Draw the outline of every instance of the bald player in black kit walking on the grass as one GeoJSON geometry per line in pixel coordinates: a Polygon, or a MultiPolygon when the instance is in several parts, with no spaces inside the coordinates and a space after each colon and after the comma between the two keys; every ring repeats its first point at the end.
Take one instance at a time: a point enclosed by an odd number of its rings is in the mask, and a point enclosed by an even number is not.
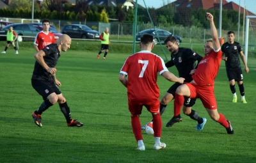
{"type": "Polygon", "coordinates": [[[60,105],[60,110],[67,120],[68,127],[83,126],[83,123],[72,120],[67,101],[58,88],[61,83],[56,79],[57,70],[55,66],[61,56],[61,52],[67,51],[70,48],[70,44],[71,38],[64,34],[60,36],[56,43],[47,45],[44,49],[36,52],[34,56],[36,62],[31,84],[44,99],[40,107],[32,113],[32,117],[38,127],[42,127],[41,114],[56,102],[60,105]]]}

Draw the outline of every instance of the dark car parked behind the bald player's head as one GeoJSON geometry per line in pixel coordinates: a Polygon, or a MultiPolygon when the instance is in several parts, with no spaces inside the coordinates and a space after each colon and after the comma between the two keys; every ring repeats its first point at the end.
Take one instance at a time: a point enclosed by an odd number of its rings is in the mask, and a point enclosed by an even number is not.
{"type": "Polygon", "coordinates": [[[61,29],[61,33],[67,34],[70,38],[93,39],[100,37],[100,33],[98,31],[94,31],[90,27],[81,24],[65,25],[61,29]]]}

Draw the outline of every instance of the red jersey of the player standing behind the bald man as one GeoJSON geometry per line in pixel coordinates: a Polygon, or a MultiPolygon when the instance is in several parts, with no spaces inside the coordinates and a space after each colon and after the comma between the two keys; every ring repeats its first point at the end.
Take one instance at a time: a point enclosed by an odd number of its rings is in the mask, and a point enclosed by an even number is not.
{"type": "Polygon", "coordinates": [[[46,47],[47,45],[50,45],[51,43],[55,43],[54,34],[51,32],[47,34],[47,33],[44,33],[44,31],[40,31],[40,33],[36,35],[35,42],[34,42],[34,44],[38,46],[39,50],[44,49],[44,47],[46,47]]]}

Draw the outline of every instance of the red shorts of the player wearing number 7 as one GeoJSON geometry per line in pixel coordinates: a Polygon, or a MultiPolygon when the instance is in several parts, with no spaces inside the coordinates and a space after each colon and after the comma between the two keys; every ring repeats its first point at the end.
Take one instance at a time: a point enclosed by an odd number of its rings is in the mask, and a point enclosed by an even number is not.
{"type": "Polygon", "coordinates": [[[141,114],[143,105],[147,108],[147,110],[150,113],[157,113],[159,111],[160,102],[159,102],[159,100],[157,100],[156,102],[154,102],[150,105],[138,104],[138,103],[134,104],[132,102],[128,102],[129,111],[130,111],[131,114],[134,114],[134,115],[140,115],[141,114]]]}

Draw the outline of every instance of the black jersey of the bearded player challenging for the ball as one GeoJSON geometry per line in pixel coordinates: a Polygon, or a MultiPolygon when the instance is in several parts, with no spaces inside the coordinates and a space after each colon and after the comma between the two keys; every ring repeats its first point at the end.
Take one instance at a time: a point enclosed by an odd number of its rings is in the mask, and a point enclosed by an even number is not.
{"type": "Polygon", "coordinates": [[[202,56],[193,50],[179,47],[179,52],[177,54],[172,53],[171,60],[165,63],[165,66],[168,68],[175,65],[179,72],[179,77],[184,77],[184,82],[191,82],[192,76],[189,73],[196,68],[195,61],[199,63],[201,59],[202,56]]]}

